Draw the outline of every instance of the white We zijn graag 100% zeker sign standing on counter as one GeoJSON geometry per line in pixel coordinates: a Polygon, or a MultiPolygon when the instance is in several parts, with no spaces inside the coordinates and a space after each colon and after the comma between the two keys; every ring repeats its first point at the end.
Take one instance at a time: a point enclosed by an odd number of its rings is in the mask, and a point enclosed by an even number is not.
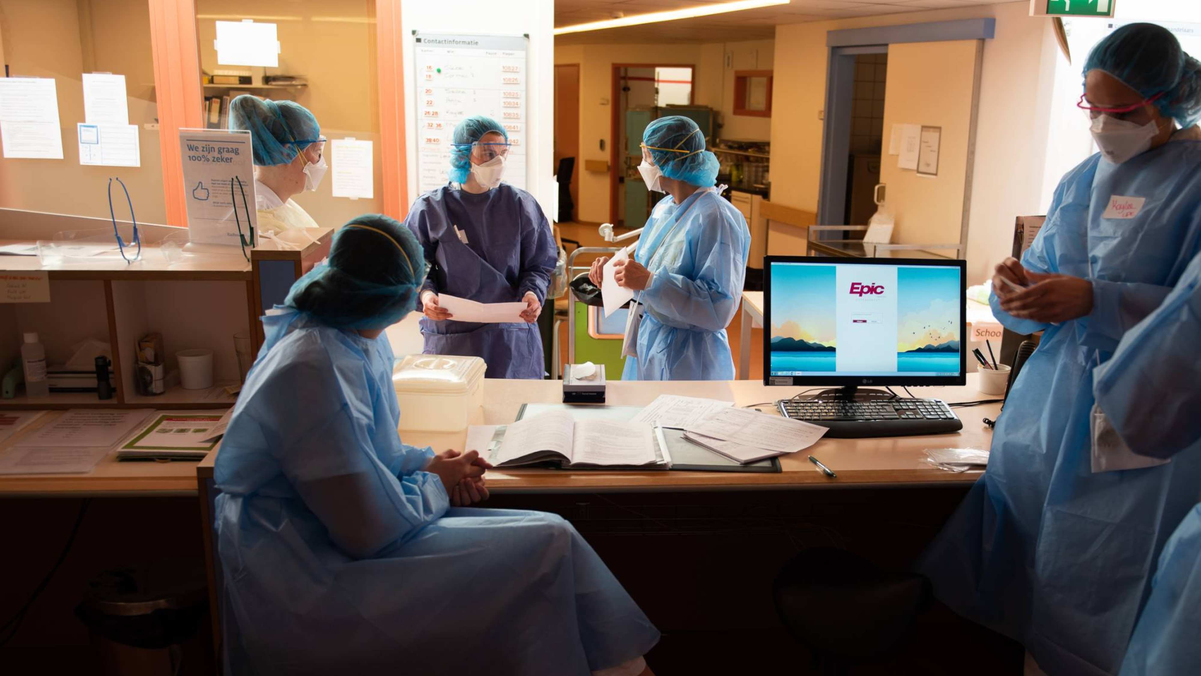
{"type": "Polygon", "coordinates": [[[181,128],[179,152],[192,244],[257,246],[250,132],[181,128]]]}

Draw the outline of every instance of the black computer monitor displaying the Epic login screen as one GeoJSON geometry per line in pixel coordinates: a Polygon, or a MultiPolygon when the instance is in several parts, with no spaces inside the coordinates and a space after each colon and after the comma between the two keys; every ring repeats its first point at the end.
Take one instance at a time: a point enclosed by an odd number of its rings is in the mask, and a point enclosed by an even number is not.
{"type": "Polygon", "coordinates": [[[764,383],[962,385],[966,262],[764,258],[764,383]]]}

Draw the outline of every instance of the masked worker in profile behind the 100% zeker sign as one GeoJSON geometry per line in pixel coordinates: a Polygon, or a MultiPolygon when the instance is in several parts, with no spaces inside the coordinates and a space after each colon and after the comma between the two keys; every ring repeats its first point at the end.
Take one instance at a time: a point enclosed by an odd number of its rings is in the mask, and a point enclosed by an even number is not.
{"type": "MultiPolygon", "coordinates": [[[[243,94],[229,103],[229,128],[249,131],[253,144],[259,233],[281,235],[291,229],[319,227],[292,201],[305,190],[317,190],[328,168],[317,118],[292,101],[243,94]]],[[[289,234],[281,239],[297,240],[298,233],[289,234]]]]}

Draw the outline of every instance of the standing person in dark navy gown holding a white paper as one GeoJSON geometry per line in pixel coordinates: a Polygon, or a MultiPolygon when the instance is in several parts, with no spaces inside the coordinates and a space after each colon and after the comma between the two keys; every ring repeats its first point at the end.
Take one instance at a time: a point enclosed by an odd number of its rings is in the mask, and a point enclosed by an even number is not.
{"type": "Polygon", "coordinates": [[[467,118],[454,128],[450,184],[417,198],[405,225],[430,276],[422,288],[426,354],[480,357],[489,378],[542,378],[545,358],[534,322],[555,271],[555,239],[528,192],[501,183],[509,137],[496,120],[467,118]],[[438,305],[447,293],[479,303],[525,303],[524,323],[459,322],[438,305]]]}

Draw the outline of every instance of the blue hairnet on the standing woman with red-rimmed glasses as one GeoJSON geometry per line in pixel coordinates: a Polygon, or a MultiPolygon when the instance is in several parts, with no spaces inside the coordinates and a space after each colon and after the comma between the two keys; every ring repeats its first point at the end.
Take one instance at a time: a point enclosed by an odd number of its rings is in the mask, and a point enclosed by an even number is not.
{"type": "Polygon", "coordinates": [[[1172,31],[1155,24],[1127,24],[1097,43],[1085,62],[1104,71],[1145,98],[1159,96],[1155,107],[1182,128],[1201,113],[1201,64],[1189,56],[1172,31]]]}

